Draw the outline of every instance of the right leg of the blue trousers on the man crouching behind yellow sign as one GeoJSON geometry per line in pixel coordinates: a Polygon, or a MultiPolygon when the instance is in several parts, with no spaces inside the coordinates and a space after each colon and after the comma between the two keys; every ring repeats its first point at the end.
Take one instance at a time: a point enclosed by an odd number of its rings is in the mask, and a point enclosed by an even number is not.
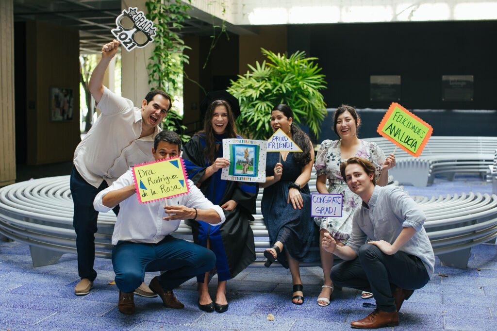
{"type": "Polygon", "coordinates": [[[146,271],[167,270],[159,277],[165,291],[211,270],[216,263],[212,250],[172,236],[166,236],[154,247],[156,260],[147,266],[146,271]]]}

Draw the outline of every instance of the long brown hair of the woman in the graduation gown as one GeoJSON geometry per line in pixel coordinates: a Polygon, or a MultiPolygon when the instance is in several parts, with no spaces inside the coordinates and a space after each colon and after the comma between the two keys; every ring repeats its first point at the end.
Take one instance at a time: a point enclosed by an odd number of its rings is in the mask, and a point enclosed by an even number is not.
{"type": "Polygon", "coordinates": [[[204,118],[204,129],[199,133],[205,135],[205,149],[204,155],[211,164],[216,161],[216,157],[218,151],[216,150],[216,138],[214,137],[215,131],[212,128],[212,116],[214,114],[214,109],[217,106],[225,106],[228,111],[228,124],[226,125],[225,135],[226,138],[237,138],[238,132],[237,127],[235,126],[235,117],[233,116],[233,112],[231,111],[230,104],[225,100],[215,100],[207,108],[205,112],[204,118]]]}

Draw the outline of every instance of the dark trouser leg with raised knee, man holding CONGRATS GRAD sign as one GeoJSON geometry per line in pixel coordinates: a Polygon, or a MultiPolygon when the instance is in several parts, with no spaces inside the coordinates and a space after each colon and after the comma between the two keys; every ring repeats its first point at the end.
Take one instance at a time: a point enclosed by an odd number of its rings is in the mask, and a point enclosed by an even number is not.
{"type": "Polygon", "coordinates": [[[421,260],[403,251],[387,255],[375,245],[365,244],[359,248],[358,259],[371,285],[376,305],[385,312],[396,310],[392,297],[395,287],[415,290],[429,281],[421,260]]]}

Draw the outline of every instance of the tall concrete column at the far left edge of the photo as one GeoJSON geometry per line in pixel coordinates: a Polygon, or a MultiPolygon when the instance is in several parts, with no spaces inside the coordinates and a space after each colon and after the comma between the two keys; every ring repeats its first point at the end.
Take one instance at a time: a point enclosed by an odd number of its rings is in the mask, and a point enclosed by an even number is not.
{"type": "Polygon", "coordinates": [[[0,186],[15,181],[14,5],[0,1],[0,186]]]}

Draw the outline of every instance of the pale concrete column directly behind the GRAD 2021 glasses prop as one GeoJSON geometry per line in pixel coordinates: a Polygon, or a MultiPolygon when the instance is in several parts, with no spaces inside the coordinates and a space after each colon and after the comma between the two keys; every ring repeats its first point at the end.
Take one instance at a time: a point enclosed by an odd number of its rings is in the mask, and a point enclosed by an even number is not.
{"type": "MultiPolygon", "coordinates": [[[[145,6],[146,0],[126,0],[121,1],[121,8],[138,7],[146,13],[147,7],[145,6]]],[[[128,52],[121,47],[122,54],[122,83],[121,92],[122,96],[133,101],[135,106],[140,108],[142,100],[145,95],[150,91],[149,86],[149,73],[147,71],[147,64],[154,49],[154,43],[148,44],[144,48],[135,48],[128,52]]]]}

